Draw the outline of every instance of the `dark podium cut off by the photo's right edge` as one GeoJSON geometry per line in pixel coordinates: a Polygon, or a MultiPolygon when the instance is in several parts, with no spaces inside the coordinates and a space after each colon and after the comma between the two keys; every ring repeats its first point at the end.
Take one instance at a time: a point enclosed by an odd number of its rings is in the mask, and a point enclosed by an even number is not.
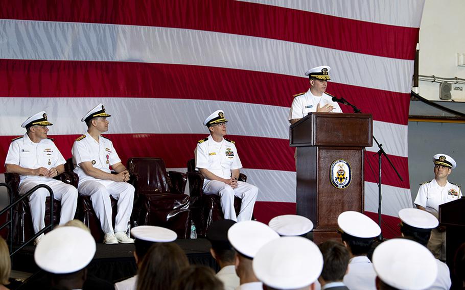
{"type": "Polygon", "coordinates": [[[446,226],[446,263],[451,272],[451,289],[462,289],[462,280],[454,274],[454,256],[465,243],[465,198],[439,205],[439,224],[446,226]]]}

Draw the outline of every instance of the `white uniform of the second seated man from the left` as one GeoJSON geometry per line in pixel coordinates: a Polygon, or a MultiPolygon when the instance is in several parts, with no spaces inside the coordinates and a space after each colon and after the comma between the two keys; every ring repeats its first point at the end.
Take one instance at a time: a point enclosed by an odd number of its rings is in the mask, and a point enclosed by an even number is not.
{"type": "Polygon", "coordinates": [[[114,232],[126,232],[132,212],[134,187],[126,182],[102,180],[88,176],[79,166],[81,162],[91,162],[95,168],[110,173],[110,165],[121,162],[111,140],[100,135],[97,142],[88,132],[85,132],[74,142],[72,152],[74,172],[79,176],[78,191],[82,195],[90,196],[92,207],[94,207],[103,232],[113,232],[110,195],[118,200],[114,232]]]}

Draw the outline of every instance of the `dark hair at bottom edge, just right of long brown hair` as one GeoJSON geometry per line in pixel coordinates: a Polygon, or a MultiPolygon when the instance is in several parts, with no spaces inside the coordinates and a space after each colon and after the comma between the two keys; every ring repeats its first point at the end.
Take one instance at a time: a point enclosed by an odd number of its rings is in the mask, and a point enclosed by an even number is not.
{"type": "Polygon", "coordinates": [[[193,265],[184,269],[171,286],[171,290],[223,290],[223,282],[208,267],[193,265]]]}

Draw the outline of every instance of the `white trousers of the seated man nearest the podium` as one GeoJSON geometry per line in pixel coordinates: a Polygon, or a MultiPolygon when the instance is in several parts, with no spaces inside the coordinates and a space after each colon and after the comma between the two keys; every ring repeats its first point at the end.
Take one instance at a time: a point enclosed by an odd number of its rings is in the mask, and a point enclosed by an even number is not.
{"type": "Polygon", "coordinates": [[[210,180],[203,184],[203,193],[206,195],[217,195],[220,197],[221,209],[225,220],[236,222],[250,221],[252,219],[253,206],[257,200],[259,189],[257,186],[238,181],[238,187],[233,188],[224,182],[210,180]],[[234,210],[234,197],[242,199],[241,210],[236,216],[234,210]]]}

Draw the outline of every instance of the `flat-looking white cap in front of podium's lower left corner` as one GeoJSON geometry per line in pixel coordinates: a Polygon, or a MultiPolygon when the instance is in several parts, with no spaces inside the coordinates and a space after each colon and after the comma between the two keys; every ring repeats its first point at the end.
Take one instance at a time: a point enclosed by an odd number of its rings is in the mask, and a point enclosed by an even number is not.
{"type": "Polygon", "coordinates": [[[313,223],[305,216],[285,214],[275,216],[268,226],[281,236],[299,236],[313,230],[313,223]]]}

